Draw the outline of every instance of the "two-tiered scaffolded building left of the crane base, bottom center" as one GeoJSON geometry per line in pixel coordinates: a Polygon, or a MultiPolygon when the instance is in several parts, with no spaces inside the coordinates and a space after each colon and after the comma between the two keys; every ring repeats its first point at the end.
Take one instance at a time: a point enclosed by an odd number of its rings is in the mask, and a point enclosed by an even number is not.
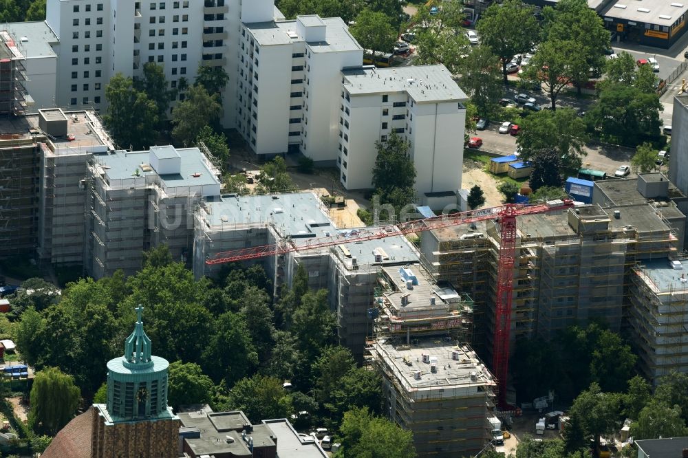
{"type": "MultiPolygon", "coordinates": [[[[373,312],[374,311],[374,312],[373,312]]],[[[413,431],[420,456],[475,455],[490,439],[496,382],[465,342],[473,301],[419,264],[385,266],[368,361],[383,375],[387,415],[413,431]]]]}

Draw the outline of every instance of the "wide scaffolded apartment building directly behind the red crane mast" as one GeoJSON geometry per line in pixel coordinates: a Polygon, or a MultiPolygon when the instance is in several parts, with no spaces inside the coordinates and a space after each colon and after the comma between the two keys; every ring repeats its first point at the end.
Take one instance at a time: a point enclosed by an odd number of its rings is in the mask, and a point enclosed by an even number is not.
{"type": "MultiPolygon", "coordinates": [[[[652,204],[579,206],[518,217],[512,338],[555,332],[591,318],[621,328],[631,268],[676,257],[678,239],[652,204]]],[[[475,342],[491,349],[499,228],[494,221],[422,233],[424,265],[475,301],[475,342]]]]}

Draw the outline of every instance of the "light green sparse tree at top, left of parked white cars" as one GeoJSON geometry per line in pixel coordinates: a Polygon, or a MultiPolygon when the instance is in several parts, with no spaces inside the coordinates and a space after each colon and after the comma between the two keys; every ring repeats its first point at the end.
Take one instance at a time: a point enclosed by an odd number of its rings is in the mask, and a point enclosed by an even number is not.
{"type": "Polygon", "coordinates": [[[442,14],[430,14],[430,7],[420,6],[413,23],[416,28],[416,65],[444,64],[451,74],[458,74],[463,56],[469,54],[469,41],[462,33],[464,19],[460,2],[442,3],[442,14]]]}

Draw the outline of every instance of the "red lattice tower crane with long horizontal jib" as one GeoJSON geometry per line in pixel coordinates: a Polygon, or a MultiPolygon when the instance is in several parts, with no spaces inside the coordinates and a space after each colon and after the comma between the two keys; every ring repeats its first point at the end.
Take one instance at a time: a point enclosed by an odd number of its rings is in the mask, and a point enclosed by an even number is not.
{"type": "Polygon", "coordinates": [[[495,219],[501,228],[502,237],[499,242],[499,266],[497,268],[497,298],[495,301],[495,329],[492,351],[492,371],[497,378],[497,406],[500,410],[509,410],[506,402],[506,380],[509,363],[509,336],[511,331],[511,296],[513,293],[513,268],[516,256],[516,217],[521,215],[535,215],[537,213],[563,210],[573,206],[572,199],[548,201],[544,204],[506,204],[504,206],[484,208],[471,212],[440,215],[438,217],[416,219],[394,226],[379,226],[351,230],[347,235],[334,235],[308,240],[291,239],[287,243],[242,248],[217,253],[206,261],[208,265],[247,261],[275,254],[326,248],[341,243],[383,239],[394,235],[410,234],[458,226],[460,224],[475,223],[495,219]]]}

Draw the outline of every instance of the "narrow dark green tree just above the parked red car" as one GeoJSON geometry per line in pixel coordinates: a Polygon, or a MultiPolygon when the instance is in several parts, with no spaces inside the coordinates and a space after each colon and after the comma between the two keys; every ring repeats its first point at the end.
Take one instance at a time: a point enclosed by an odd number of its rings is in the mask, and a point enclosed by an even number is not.
{"type": "Polygon", "coordinates": [[[495,114],[503,92],[500,76],[499,58],[490,47],[479,45],[466,57],[461,87],[471,96],[478,116],[488,118],[495,114]]]}

